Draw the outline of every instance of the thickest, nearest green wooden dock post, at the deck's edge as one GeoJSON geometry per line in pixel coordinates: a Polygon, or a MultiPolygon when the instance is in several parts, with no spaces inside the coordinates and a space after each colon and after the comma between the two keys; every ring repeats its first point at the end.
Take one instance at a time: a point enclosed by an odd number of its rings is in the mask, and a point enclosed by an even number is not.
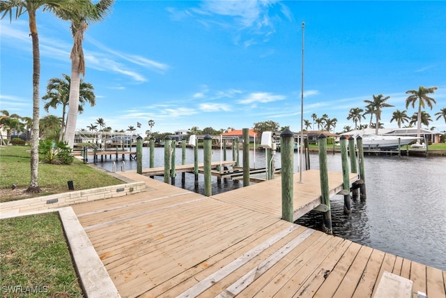
{"type": "Polygon", "coordinates": [[[280,155],[282,156],[282,219],[293,223],[294,134],[286,128],[280,134],[280,138],[280,155]]]}

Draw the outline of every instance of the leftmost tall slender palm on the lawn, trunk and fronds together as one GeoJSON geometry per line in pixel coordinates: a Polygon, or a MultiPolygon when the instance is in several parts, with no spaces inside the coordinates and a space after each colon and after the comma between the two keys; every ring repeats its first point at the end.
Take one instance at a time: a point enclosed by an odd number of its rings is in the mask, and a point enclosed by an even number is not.
{"type": "Polygon", "coordinates": [[[15,19],[18,19],[24,13],[28,13],[29,31],[33,47],[33,125],[31,132],[31,180],[26,189],[26,193],[40,193],[38,185],[38,165],[39,165],[39,110],[40,110],[40,49],[36,22],[36,11],[39,8],[43,10],[53,10],[57,8],[60,11],[70,11],[81,9],[83,1],[70,0],[10,0],[0,1],[1,19],[9,15],[12,21],[13,10],[15,10],[15,19]]]}

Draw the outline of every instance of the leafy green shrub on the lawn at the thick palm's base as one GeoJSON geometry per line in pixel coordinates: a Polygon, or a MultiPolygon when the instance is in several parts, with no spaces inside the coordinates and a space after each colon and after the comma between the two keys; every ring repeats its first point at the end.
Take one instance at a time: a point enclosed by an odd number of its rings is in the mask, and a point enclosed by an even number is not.
{"type": "Polygon", "coordinates": [[[43,163],[54,165],[70,165],[74,158],[66,142],[40,141],[39,153],[43,155],[43,163]]]}

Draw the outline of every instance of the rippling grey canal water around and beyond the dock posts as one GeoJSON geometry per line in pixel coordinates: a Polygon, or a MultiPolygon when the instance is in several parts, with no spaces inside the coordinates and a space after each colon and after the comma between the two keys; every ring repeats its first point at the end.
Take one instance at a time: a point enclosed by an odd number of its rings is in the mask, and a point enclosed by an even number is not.
{"type": "MultiPolygon", "coordinates": [[[[220,161],[220,150],[213,150],[213,161],[220,161]]],[[[143,148],[143,168],[149,167],[149,151],[143,148]]],[[[239,154],[243,165],[243,152],[239,154]]],[[[226,160],[232,161],[232,150],[226,151],[226,160]]],[[[298,153],[294,156],[294,170],[299,171],[298,153]]],[[[112,170],[112,161],[95,165],[112,170]]],[[[199,163],[203,151],[199,149],[199,163]]],[[[93,163],[90,158],[89,163],[93,163]]],[[[186,149],[186,164],[194,163],[193,149],[186,149]]],[[[265,167],[263,150],[250,152],[251,167],[265,167]],[[255,155],[255,159],[254,159],[255,155]]],[[[181,149],[176,149],[176,165],[181,164],[181,149]]],[[[121,158],[116,162],[121,170],[121,158]]],[[[164,148],[155,148],[155,167],[164,166],[164,148]]],[[[275,167],[280,166],[280,153],[275,155],[275,167]]],[[[310,154],[310,167],[318,169],[318,154],[310,154]]],[[[335,195],[331,200],[333,234],[359,244],[399,255],[425,265],[446,270],[446,158],[443,156],[365,156],[367,201],[352,202],[351,214],[344,215],[344,197],[335,195]]],[[[137,168],[136,161],[125,160],[125,170],[137,168]]],[[[341,171],[340,154],[328,153],[328,170],[341,171]]],[[[199,186],[194,175],[176,177],[178,187],[203,194],[203,175],[199,186]]],[[[163,181],[162,177],[155,177],[163,181]]],[[[213,179],[213,194],[243,187],[243,181],[213,179]]],[[[304,181],[305,182],[305,181],[304,181]]],[[[296,223],[321,230],[322,214],[312,211],[296,223]]]]}

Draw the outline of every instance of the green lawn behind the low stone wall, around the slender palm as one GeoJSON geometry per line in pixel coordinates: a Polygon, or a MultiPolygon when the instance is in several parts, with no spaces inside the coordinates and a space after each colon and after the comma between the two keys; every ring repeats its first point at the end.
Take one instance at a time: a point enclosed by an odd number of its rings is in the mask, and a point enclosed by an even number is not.
{"type": "Polygon", "coordinates": [[[77,160],[71,165],[51,165],[40,163],[38,167],[38,184],[42,193],[24,195],[31,179],[30,147],[2,146],[0,147],[0,202],[33,198],[39,195],[52,195],[68,191],[68,181],[73,181],[75,190],[96,188],[122,184],[123,182],[101,172],[82,161],[77,160]],[[11,186],[17,188],[12,191],[11,186]]]}

